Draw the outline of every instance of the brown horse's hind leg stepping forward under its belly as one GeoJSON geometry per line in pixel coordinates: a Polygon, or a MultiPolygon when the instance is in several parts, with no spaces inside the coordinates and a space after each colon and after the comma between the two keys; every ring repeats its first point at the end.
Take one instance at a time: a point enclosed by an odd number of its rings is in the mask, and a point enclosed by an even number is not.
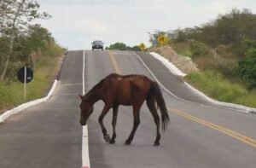
{"type": "Polygon", "coordinates": [[[134,134],[137,130],[137,126],[140,124],[140,109],[142,104],[138,106],[133,106],[133,128],[131,130],[131,134],[128,139],[125,141],[125,145],[130,145],[133,140],[134,134]]]}

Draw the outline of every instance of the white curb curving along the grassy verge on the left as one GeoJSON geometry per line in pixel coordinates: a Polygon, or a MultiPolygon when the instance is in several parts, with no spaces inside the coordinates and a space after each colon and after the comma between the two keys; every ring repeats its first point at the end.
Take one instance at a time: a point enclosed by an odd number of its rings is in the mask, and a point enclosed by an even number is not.
{"type": "Polygon", "coordinates": [[[52,95],[52,93],[54,92],[55,90],[55,87],[58,83],[58,80],[55,79],[55,82],[54,84],[52,85],[52,88],[51,90],[49,90],[49,93],[47,96],[45,96],[44,98],[41,98],[41,99],[37,99],[37,100],[34,100],[34,101],[29,101],[29,102],[26,102],[24,104],[21,104],[20,106],[18,107],[15,107],[13,109],[10,109],[9,111],[6,111],[5,113],[3,113],[2,115],[0,115],[0,123],[3,123],[6,119],[8,119],[11,115],[14,115],[15,113],[20,113],[22,110],[26,109],[27,107],[32,107],[38,103],[41,103],[41,102],[44,102],[44,101],[47,101],[49,99],[49,97],[52,95]]]}

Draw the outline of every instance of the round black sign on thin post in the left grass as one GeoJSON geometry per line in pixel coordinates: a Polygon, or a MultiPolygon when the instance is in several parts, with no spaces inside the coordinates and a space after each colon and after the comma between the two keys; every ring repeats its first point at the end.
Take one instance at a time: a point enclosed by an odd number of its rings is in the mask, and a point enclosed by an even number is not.
{"type": "Polygon", "coordinates": [[[17,72],[17,78],[21,83],[24,84],[23,99],[24,101],[26,101],[26,84],[32,81],[32,69],[29,67],[21,67],[20,70],[17,72]]]}

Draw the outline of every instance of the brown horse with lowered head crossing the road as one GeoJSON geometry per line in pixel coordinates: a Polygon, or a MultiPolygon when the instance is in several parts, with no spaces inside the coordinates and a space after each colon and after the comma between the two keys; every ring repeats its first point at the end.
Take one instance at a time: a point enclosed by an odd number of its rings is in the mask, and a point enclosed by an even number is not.
{"type": "Polygon", "coordinates": [[[148,109],[154,117],[156,125],[156,139],[154,146],[160,145],[160,117],[157,113],[155,102],[157,102],[160,108],[161,119],[162,119],[162,130],[166,130],[166,126],[169,122],[169,116],[166,110],[166,103],[161,94],[160,88],[157,83],[150,80],[143,75],[119,75],[112,73],[106,78],[103,78],[98,84],[96,84],[86,95],[81,97],[81,116],[80,124],[86,125],[87,119],[93,112],[93,104],[96,101],[102,100],[105,103],[102,114],[98,121],[102,127],[102,133],[104,139],[108,143],[115,142],[115,125],[118,115],[119,105],[132,106],[133,108],[133,129],[128,139],[125,141],[126,145],[130,145],[133,136],[137,130],[137,126],[140,123],[140,109],[143,102],[146,100],[148,109]],[[113,136],[110,137],[107,134],[107,130],[103,125],[103,119],[108,113],[108,110],[113,108],[113,136]]]}

